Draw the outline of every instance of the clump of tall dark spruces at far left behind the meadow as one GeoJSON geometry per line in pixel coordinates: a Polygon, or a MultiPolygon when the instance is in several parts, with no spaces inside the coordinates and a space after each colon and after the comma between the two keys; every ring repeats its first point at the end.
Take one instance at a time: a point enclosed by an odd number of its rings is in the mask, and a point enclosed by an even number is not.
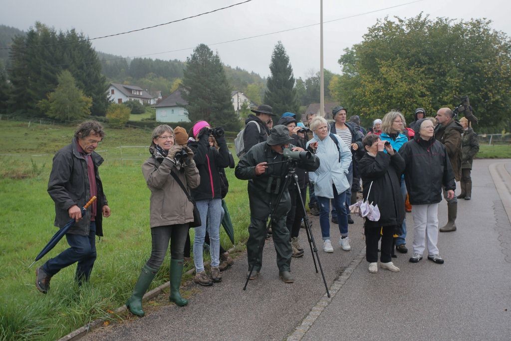
{"type": "Polygon", "coordinates": [[[69,70],[77,86],[92,98],[92,115],[104,116],[108,106],[106,78],[96,51],[75,30],[56,32],[36,22],[25,36],[13,39],[10,50],[9,103],[22,115],[42,115],[37,103],[57,87],[57,75],[69,70]]]}

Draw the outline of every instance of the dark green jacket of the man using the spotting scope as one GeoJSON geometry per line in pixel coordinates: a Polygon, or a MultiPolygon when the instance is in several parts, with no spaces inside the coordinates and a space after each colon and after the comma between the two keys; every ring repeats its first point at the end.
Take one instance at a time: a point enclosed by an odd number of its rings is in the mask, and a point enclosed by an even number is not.
{"type": "MultiPolygon", "coordinates": [[[[293,148],[289,145],[289,148],[293,148]]],[[[278,193],[283,188],[288,174],[289,163],[282,154],[273,151],[266,142],[253,146],[236,166],[235,175],[241,180],[248,180],[248,199],[250,214],[257,219],[267,219],[275,208],[278,193]],[[255,175],[255,166],[267,162],[268,168],[261,175],[255,175]],[[273,165],[271,165],[273,164],[273,165]]],[[[309,160],[299,161],[298,166],[307,171],[315,171],[319,167],[319,159],[313,154],[309,160]]],[[[291,209],[291,199],[288,188],[284,188],[282,198],[278,203],[276,215],[287,215],[291,209]]]]}

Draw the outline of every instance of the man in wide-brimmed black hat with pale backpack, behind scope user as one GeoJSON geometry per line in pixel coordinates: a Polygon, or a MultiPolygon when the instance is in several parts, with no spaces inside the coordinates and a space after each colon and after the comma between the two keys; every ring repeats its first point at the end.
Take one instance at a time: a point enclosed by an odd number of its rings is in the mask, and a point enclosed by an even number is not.
{"type": "Polygon", "coordinates": [[[250,111],[254,112],[255,115],[250,114],[248,119],[245,120],[245,132],[243,133],[245,153],[253,146],[268,139],[270,130],[266,124],[271,120],[272,116],[276,116],[273,113],[272,107],[266,104],[261,104],[256,109],[250,111]]]}

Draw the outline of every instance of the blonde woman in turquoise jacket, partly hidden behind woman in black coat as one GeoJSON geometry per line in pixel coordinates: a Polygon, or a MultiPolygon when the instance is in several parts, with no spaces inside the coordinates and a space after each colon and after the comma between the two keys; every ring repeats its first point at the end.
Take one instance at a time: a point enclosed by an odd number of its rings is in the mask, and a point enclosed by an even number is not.
{"type": "MultiPolygon", "coordinates": [[[[403,133],[403,129],[406,126],[406,121],[403,114],[399,111],[390,111],[385,114],[382,119],[382,133],[380,134],[380,138],[382,141],[390,142],[390,146],[393,150],[399,151],[401,146],[403,146],[408,138],[403,133]]],[[[386,151],[385,151],[386,152],[386,151]]],[[[403,195],[403,202],[406,200],[406,185],[404,176],[400,177],[400,187],[401,194],[403,195]]],[[[406,247],[406,218],[403,220],[403,224],[401,226],[400,235],[396,238],[396,249],[402,254],[406,254],[408,252],[408,248],[406,247]]]]}

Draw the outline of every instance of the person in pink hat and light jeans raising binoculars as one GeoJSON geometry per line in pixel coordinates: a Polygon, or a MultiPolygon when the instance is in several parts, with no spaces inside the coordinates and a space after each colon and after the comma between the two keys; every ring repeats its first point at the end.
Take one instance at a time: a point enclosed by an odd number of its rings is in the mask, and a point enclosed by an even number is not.
{"type": "Polygon", "coordinates": [[[192,139],[188,147],[194,152],[194,160],[200,174],[200,185],[192,189],[192,197],[200,213],[202,225],[195,228],[193,259],[195,263],[194,282],[200,285],[213,285],[222,281],[220,275],[220,221],[222,216],[222,189],[218,168],[229,167],[229,150],[222,127],[211,128],[206,121],[199,121],[192,127],[192,139]],[[213,136],[219,149],[210,148],[209,137],[213,136]],[[208,221],[209,220],[209,221],[208,221]],[[204,269],[202,247],[206,234],[206,224],[210,236],[211,277],[204,269]]]}

